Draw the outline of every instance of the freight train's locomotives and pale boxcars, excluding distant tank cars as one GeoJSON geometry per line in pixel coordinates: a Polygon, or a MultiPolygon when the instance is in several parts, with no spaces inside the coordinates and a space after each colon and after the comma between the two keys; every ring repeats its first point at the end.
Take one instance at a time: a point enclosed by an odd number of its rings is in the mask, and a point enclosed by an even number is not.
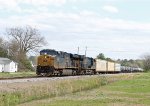
{"type": "Polygon", "coordinates": [[[37,58],[36,74],[53,75],[85,75],[96,73],[120,73],[121,65],[116,62],[94,59],[84,55],[72,54],[52,49],[40,51],[37,58]]]}

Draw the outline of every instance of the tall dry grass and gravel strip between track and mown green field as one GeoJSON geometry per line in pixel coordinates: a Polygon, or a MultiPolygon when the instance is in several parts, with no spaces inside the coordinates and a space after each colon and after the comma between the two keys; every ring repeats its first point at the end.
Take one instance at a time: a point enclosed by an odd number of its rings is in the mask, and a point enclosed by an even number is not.
{"type": "Polygon", "coordinates": [[[102,84],[99,77],[1,84],[0,105],[15,106],[19,103],[61,96],[96,88],[102,84]],[[6,88],[6,89],[5,89],[6,88]]]}

